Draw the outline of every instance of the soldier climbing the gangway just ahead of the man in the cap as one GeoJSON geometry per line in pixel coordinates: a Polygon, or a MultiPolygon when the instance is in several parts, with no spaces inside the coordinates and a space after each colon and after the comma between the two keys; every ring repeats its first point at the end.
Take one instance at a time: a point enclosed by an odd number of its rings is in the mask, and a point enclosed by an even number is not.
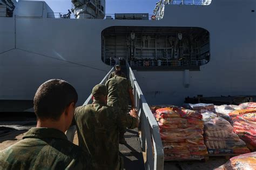
{"type": "MultiPolygon", "coordinates": [[[[134,108],[134,99],[132,93],[132,86],[129,80],[121,77],[121,72],[116,71],[116,76],[107,80],[106,84],[109,94],[107,95],[107,105],[119,107],[123,113],[127,113],[129,100],[131,106],[134,108]]],[[[126,144],[124,133],[126,128],[120,129],[120,144],[126,144]]]]}

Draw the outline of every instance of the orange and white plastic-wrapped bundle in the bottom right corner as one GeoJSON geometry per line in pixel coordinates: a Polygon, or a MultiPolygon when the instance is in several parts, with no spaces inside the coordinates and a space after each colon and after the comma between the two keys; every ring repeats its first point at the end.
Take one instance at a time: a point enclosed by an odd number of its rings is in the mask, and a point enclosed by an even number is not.
{"type": "Polygon", "coordinates": [[[253,170],[256,169],[256,152],[246,153],[233,157],[226,164],[214,170],[253,170]]]}

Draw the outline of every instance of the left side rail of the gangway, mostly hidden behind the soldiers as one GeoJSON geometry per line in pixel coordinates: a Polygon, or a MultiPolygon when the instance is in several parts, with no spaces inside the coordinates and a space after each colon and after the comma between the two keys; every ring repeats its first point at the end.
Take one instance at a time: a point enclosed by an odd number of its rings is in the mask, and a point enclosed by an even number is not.
{"type": "MultiPolygon", "coordinates": [[[[111,72],[114,70],[114,67],[112,67],[112,69],[109,71],[109,73],[106,74],[106,76],[102,79],[102,81],[100,81],[99,84],[105,84],[107,81],[107,78],[109,78],[111,72]]],[[[90,96],[85,100],[84,105],[87,104],[91,104],[92,103],[92,95],[90,94],[90,96]]],[[[68,131],[66,131],[66,137],[68,137],[68,140],[73,142],[74,137],[75,137],[75,133],[76,133],[76,126],[70,126],[68,131]]]]}

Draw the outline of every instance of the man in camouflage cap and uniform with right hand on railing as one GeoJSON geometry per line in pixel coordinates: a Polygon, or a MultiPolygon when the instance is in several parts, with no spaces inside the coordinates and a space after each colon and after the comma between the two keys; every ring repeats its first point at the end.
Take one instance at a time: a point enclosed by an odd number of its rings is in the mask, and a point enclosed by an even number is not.
{"type": "Polygon", "coordinates": [[[96,85],[92,89],[93,103],[76,108],[78,142],[91,155],[94,169],[123,169],[119,128],[138,127],[138,115],[134,110],[131,115],[120,114],[118,108],[106,105],[106,97],[106,86],[96,85]]]}

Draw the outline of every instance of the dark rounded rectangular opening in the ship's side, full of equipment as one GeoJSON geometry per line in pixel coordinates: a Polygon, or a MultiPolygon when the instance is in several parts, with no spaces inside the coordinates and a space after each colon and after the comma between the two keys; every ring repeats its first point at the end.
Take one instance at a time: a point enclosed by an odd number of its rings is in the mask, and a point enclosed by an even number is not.
{"type": "Polygon", "coordinates": [[[112,26],[102,31],[102,60],[127,60],[140,69],[196,69],[210,61],[210,33],[202,28],[112,26]]]}

